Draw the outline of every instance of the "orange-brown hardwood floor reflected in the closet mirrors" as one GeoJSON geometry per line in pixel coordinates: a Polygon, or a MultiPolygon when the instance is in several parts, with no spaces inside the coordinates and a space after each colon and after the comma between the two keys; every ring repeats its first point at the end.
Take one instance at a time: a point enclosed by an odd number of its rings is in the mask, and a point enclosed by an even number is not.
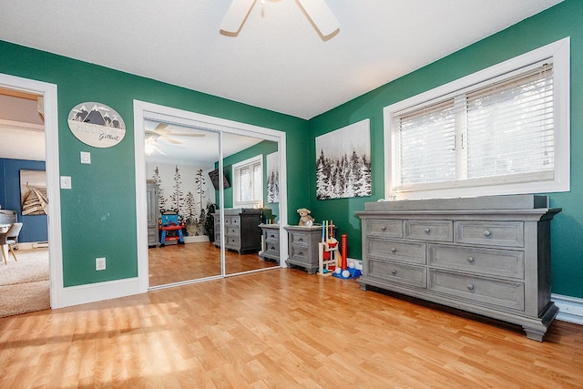
{"type": "MultiPolygon", "coordinates": [[[[239,254],[225,251],[225,271],[234,274],[276,267],[263,261],[257,253],[239,254]]],[[[220,275],[220,249],[210,242],[174,244],[148,249],[149,286],[198,280],[220,275]]]]}

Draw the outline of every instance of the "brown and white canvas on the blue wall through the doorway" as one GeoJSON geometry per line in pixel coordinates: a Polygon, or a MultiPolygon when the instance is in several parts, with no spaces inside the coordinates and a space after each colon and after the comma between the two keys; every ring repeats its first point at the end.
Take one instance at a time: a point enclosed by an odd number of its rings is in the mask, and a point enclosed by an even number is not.
{"type": "Polygon", "coordinates": [[[46,215],[46,171],[20,170],[22,215],[46,215]]]}

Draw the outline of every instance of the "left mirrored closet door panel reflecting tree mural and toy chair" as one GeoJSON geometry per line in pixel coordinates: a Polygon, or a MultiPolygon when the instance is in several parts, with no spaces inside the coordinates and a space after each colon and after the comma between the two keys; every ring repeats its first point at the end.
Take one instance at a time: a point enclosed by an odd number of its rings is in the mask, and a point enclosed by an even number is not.
{"type": "Polygon", "coordinates": [[[149,286],[220,276],[210,173],[218,132],[145,121],[149,286]]]}

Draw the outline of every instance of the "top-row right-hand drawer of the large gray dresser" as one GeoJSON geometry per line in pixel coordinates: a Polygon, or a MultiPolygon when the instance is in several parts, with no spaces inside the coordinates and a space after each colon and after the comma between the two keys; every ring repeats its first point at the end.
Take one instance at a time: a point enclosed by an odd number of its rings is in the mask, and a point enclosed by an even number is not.
{"type": "Polygon", "coordinates": [[[455,241],[488,246],[524,247],[522,221],[456,221],[455,241]]]}

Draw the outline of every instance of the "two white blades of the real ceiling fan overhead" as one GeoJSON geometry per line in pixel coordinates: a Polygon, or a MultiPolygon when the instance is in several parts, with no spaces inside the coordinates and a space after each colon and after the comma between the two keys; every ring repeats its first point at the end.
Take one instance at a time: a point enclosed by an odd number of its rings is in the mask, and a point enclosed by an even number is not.
{"type": "MultiPolygon", "coordinates": [[[[233,0],[227,14],[220,23],[220,30],[230,36],[237,36],[251,7],[256,0],[233,0]]],[[[264,0],[261,0],[263,2],[264,0]]],[[[332,36],[340,25],[336,16],[332,14],[325,0],[297,0],[306,15],[312,20],[312,24],[323,37],[332,36]]]]}

